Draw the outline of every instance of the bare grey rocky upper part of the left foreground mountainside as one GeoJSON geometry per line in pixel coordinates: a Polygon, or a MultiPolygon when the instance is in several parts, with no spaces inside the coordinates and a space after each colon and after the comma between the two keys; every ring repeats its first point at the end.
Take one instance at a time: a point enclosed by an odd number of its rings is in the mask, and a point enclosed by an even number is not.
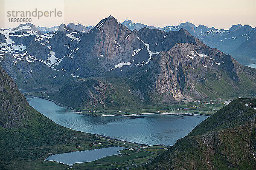
{"type": "Polygon", "coordinates": [[[20,94],[16,83],[0,67],[0,125],[5,128],[20,127],[29,119],[31,111],[26,98],[20,94]]]}

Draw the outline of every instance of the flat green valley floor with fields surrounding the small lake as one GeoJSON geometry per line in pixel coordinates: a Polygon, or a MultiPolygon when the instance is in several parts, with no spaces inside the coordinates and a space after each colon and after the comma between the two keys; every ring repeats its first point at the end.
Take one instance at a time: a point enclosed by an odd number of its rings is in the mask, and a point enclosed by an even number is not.
{"type": "MultiPolygon", "coordinates": [[[[31,148],[32,150],[55,150],[57,148],[57,152],[55,153],[64,153],[70,151],[79,151],[79,150],[91,150],[102,147],[110,147],[110,146],[121,146],[126,147],[127,149],[121,150],[120,154],[114,156],[107,156],[102,159],[87,162],[87,163],[77,163],[73,164],[73,166],[61,164],[55,161],[45,161],[46,157],[42,157],[40,159],[16,159],[12,161],[11,164],[7,165],[5,169],[8,170],[66,170],[70,167],[74,170],[122,170],[122,169],[130,169],[133,167],[137,167],[140,165],[147,164],[155,159],[159,154],[165,152],[169,147],[164,145],[157,146],[143,146],[142,144],[136,144],[126,141],[120,141],[116,139],[109,139],[103,136],[97,136],[100,138],[97,142],[103,142],[102,146],[93,146],[89,147],[88,144],[81,144],[81,147],[76,148],[76,145],[66,145],[66,146],[50,146],[51,148],[37,147],[31,148]],[[107,144],[107,145],[106,145],[107,144]]],[[[55,150],[56,151],[56,150],[55,150]]],[[[50,154],[48,154],[50,156],[50,154]]]]}

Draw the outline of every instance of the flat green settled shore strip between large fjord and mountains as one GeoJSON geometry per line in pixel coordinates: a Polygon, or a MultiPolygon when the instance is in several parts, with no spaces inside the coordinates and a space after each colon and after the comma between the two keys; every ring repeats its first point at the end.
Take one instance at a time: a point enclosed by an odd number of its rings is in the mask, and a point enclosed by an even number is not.
{"type": "MultiPolygon", "coordinates": [[[[24,95],[41,97],[43,99],[49,99],[49,93],[51,91],[38,91],[38,92],[24,92],[24,95]]],[[[212,115],[216,111],[223,108],[225,105],[229,104],[232,100],[239,97],[254,98],[256,95],[245,95],[245,96],[233,96],[229,98],[218,98],[218,99],[206,99],[202,101],[196,101],[187,99],[182,102],[175,104],[166,105],[133,105],[133,106],[117,106],[117,107],[99,107],[99,108],[71,108],[70,106],[62,105],[54,100],[56,105],[62,107],[76,110],[81,114],[86,114],[87,116],[117,116],[117,115],[140,115],[142,113],[159,113],[159,114],[202,114],[202,115],[212,115]]]]}

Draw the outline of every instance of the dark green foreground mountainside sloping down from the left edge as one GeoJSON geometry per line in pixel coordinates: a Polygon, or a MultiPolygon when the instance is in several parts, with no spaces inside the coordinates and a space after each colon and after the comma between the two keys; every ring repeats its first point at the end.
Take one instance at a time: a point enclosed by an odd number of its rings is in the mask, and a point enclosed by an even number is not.
{"type": "Polygon", "coordinates": [[[42,168],[51,154],[78,150],[77,144],[87,146],[98,140],[93,134],[57,125],[29,106],[13,79],[0,68],[0,169],[29,169],[38,160],[42,168]]]}

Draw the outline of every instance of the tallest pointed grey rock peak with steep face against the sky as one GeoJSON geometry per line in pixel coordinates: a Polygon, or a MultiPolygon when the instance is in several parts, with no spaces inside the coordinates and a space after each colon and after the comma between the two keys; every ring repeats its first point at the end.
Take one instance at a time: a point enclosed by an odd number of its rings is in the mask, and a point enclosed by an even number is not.
{"type": "Polygon", "coordinates": [[[88,34],[81,37],[73,59],[65,57],[58,68],[73,67],[76,76],[100,76],[115,68],[119,63],[133,62],[134,50],[143,48],[127,27],[118,23],[112,16],[102,20],[88,34]]]}

